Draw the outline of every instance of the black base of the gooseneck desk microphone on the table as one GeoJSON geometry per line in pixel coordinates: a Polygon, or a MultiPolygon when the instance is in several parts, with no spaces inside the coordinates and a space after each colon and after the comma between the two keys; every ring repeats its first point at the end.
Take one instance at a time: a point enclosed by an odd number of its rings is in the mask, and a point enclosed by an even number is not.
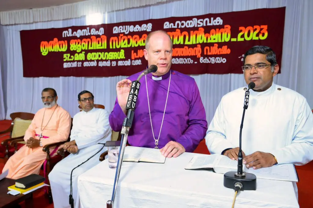
{"type": "Polygon", "coordinates": [[[240,182],[242,188],[240,190],[256,190],[256,176],[252,173],[244,172],[244,177],[236,176],[237,171],[229,171],[224,174],[224,186],[234,189],[235,183],[240,182]]]}

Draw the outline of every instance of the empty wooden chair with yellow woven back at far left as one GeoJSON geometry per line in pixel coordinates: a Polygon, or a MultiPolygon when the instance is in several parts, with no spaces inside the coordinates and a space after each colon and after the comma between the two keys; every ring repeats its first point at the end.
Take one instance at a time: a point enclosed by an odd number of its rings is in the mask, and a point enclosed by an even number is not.
{"type": "Polygon", "coordinates": [[[17,112],[10,114],[12,119],[11,126],[5,130],[0,132],[1,137],[9,136],[10,138],[4,139],[1,142],[0,146],[0,158],[4,158],[4,162],[6,162],[11,155],[13,155],[17,149],[21,148],[25,145],[24,142],[24,134],[27,130],[28,126],[31,124],[35,114],[25,113],[25,112],[17,112]],[[16,148],[13,148],[11,144],[14,140],[20,139],[19,143],[15,143],[16,148]]]}

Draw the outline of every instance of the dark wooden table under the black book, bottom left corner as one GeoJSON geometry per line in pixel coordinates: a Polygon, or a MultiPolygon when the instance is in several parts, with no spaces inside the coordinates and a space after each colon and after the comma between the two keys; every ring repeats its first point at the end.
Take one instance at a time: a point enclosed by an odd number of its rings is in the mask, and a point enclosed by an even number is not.
{"type": "Polygon", "coordinates": [[[0,208],[9,208],[13,205],[17,205],[18,203],[25,200],[26,208],[33,208],[33,194],[18,194],[11,195],[8,193],[8,187],[15,184],[15,180],[4,178],[0,180],[0,208]]]}

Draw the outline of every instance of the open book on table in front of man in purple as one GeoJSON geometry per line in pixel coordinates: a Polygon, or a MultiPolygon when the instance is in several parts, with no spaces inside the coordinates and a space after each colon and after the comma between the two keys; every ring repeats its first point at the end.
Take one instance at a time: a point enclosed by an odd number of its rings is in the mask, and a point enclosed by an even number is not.
{"type": "Polygon", "coordinates": [[[127,162],[165,163],[165,159],[159,149],[133,146],[125,148],[123,157],[123,161],[127,162]]]}

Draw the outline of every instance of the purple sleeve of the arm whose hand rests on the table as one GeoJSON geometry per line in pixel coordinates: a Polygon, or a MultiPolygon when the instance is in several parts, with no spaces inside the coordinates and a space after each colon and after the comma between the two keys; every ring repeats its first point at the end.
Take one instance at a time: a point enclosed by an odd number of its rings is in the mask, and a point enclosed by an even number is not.
{"type": "Polygon", "coordinates": [[[200,97],[200,92],[196,82],[192,86],[192,100],[190,102],[188,128],[177,140],[186,152],[193,152],[200,141],[204,139],[208,130],[205,109],[200,97]]]}

